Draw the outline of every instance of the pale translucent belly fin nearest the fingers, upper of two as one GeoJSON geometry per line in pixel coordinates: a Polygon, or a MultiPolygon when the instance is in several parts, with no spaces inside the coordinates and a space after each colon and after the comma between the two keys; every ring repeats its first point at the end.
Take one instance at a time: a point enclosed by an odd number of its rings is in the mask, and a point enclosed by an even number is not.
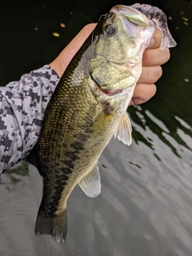
{"type": "Polygon", "coordinates": [[[128,117],[128,114],[125,113],[118,123],[118,129],[114,134],[114,138],[118,138],[119,141],[122,141],[124,144],[130,146],[132,142],[131,132],[132,128],[130,124],[130,118],[128,117]]]}

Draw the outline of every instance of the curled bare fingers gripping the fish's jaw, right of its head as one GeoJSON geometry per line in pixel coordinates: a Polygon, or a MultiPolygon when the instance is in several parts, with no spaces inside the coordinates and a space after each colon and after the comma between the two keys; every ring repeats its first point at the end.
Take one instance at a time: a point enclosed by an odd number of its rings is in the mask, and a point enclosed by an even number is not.
{"type": "Polygon", "coordinates": [[[134,89],[134,95],[130,101],[130,105],[139,105],[147,102],[156,93],[157,82],[162,76],[162,64],[165,64],[170,58],[170,50],[159,50],[162,42],[162,33],[158,29],[154,38],[150,42],[150,46],[144,51],[142,58],[142,74],[138,79],[134,89]]]}

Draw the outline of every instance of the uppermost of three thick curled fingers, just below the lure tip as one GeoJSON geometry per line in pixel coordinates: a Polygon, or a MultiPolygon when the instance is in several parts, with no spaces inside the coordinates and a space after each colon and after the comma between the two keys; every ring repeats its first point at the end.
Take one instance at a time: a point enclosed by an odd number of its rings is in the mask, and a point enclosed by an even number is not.
{"type": "Polygon", "coordinates": [[[142,66],[159,66],[170,59],[170,50],[159,50],[158,48],[146,49],[142,56],[142,66]]]}

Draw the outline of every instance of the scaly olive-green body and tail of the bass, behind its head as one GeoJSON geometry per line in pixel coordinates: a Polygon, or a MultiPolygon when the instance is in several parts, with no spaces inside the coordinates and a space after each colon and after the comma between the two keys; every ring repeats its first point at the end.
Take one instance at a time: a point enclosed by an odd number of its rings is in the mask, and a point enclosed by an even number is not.
{"type": "Polygon", "coordinates": [[[90,40],[91,37],[58,83],[46,109],[40,138],[30,154],[33,162],[36,155],[43,177],[43,197],[35,234],[50,234],[57,242],[66,238],[66,199],[78,180],[94,166],[112,136],[107,135],[106,142],[101,143],[103,130],[110,130],[113,115],[107,117],[109,122],[104,122],[103,106],[98,104],[88,86],[86,70],[90,56],[86,49],[90,40]],[[95,130],[100,132],[97,134],[95,130]],[[100,141],[93,144],[91,138],[95,136],[100,136],[100,141]],[[61,223],[59,228],[55,226],[57,223],[61,223]]]}

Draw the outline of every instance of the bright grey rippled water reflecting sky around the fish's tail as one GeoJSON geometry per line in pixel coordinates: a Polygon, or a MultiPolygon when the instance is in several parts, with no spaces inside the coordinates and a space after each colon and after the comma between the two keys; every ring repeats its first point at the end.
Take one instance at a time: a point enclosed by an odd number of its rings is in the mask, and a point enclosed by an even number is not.
{"type": "Polygon", "coordinates": [[[150,110],[134,110],[141,122],[131,120],[137,131],[132,145],[112,139],[99,160],[102,193],[87,198],[77,186],[71,194],[65,244],[34,236],[42,197],[38,171],[24,163],[18,173],[2,175],[1,255],[191,255],[191,127],[175,118],[177,141],[150,110]]]}

